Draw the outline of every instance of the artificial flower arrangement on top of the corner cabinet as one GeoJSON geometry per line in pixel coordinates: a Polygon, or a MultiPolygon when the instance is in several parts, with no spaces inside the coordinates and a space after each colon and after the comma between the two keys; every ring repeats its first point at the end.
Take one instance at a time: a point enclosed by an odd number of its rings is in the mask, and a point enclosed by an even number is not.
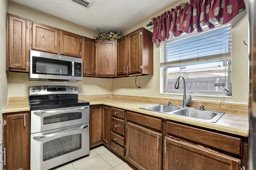
{"type": "Polygon", "coordinates": [[[115,39],[119,39],[124,36],[122,33],[122,30],[119,30],[119,33],[117,31],[109,31],[108,33],[101,32],[99,29],[97,29],[98,35],[94,35],[95,39],[99,40],[110,40],[114,41],[115,39]]]}

